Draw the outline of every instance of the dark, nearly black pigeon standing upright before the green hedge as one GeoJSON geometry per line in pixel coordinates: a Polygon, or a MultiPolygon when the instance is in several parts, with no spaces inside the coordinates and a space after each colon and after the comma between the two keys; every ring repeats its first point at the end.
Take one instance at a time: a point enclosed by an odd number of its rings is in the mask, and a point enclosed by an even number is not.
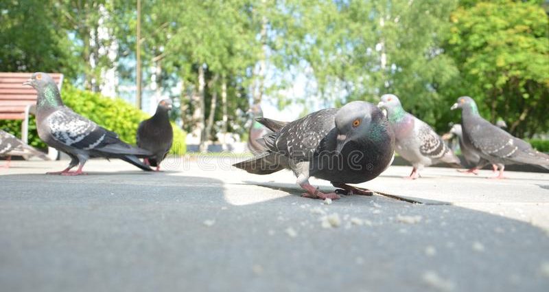
{"type": "Polygon", "coordinates": [[[156,106],[156,113],[150,119],[139,123],[137,128],[137,146],[149,150],[153,155],[145,158],[145,164],[156,166],[160,170],[160,163],[172,148],[174,130],[170,124],[168,112],[172,109],[172,100],[165,99],[156,106]]]}

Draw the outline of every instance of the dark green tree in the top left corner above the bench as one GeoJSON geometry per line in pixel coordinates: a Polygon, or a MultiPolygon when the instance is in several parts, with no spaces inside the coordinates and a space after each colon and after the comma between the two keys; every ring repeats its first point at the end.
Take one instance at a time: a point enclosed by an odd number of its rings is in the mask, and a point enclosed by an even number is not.
{"type": "Polygon", "coordinates": [[[0,6],[0,70],[80,73],[74,44],[60,26],[55,1],[2,1],[0,6]],[[40,40],[40,41],[36,41],[40,40]]]}

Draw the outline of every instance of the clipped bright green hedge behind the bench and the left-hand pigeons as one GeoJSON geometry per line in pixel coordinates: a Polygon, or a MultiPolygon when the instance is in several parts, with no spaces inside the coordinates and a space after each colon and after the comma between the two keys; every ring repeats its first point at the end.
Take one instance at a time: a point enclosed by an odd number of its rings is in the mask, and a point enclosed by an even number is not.
{"type": "MultiPolygon", "coordinates": [[[[75,89],[67,83],[63,85],[61,97],[63,102],[76,113],[80,113],[100,126],[117,133],[122,141],[133,145],[135,145],[135,133],[139,122],[149,117],[120,98],[106,98],[99,93],[75,89]]],[[[21,121],[1,120],[0,128],[21,137],[21,121]]],[[[174,145],[170,153],[185,155],[187,150],[185,133],[174,123],[172,123],[172,128],[174,129],[174,145]]],[[[29,121],[29,144],[36,148],[47,147],[36,133],[34,116],[31,116],[29,121]]]]}

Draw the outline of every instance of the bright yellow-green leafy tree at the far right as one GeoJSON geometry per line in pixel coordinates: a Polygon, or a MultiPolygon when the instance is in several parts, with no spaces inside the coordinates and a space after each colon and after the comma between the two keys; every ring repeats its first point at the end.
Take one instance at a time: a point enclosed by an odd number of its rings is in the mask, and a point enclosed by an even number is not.
{"type": "Polygon", "coordinates": [[[460,70],[452,96],[471,96],[518,137],[549,129],[549,21],[538,3],[479,2],[452,14],[445,48],[460,70]]]}

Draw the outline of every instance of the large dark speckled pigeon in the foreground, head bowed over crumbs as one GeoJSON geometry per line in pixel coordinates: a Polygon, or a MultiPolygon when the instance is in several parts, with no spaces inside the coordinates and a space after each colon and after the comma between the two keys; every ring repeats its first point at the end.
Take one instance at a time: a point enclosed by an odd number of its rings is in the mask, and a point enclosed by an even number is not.
{"type": "Polygon", "coordinates": [[[297,183],[314,199],[339,199],[323,193],[309,177],[330,181],[336,188],[371,195],[347,183],[370,181],[393,161],[395,135],[388,120],[369,102],[349,102],[340,109],[322,109],[294,122],[258,119],[273,133],[264,136],[267,150],[234,164],[257,175],[290,169],[297,183]]]}

